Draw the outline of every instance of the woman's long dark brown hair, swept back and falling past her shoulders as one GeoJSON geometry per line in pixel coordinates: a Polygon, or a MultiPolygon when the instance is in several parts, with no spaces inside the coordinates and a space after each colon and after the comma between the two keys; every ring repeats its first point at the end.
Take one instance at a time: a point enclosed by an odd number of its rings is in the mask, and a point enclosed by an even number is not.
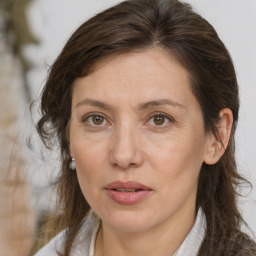
{"type": "Polygon", "coordinates": [[[239,99],[234,66],[214,28],[190,5],[177,0],[128,0],[99,13],[74,32],[51,67],[37,129],[46,146],[56,137],[60,146],[57,209],[61,211],[54,223],[55,230],[67,228],[65,255],[69,255],[90,208],[76,172],[69,167],[66,130],[72,83],[93,72],[103,58],[154,46],[171,52],[188,70],[206,131],[218,136],[220,110],[230,108],[233,113],[231,138],[223,157],[215,165],[203,164],[200,172],[196,207],[206,215],[207,230],[198,255],[252,255],[256,246],[239,231],[243,219],[236,204],[236,188],[245,179],[238,174],[235,162],[239,99]]]}

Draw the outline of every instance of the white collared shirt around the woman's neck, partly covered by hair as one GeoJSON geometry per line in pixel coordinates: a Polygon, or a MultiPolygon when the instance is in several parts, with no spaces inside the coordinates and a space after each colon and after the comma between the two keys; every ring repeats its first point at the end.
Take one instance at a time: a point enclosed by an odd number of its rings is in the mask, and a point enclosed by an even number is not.
{"type": "MultiPolygon", "coordinates": [[[[75,239],[71,256],[94,256],[96,236],[100,227],[100,220],[92,211],[75,239]]],[[[194,226],[181,244],[180,248],[172,256],[196,256],[204,239],[206,230],[206,218],[199,209],[194,226]]],[[[58,256],[56,250],[63,252],[65,231],[59,233],[35,256],[58,256]]]]}

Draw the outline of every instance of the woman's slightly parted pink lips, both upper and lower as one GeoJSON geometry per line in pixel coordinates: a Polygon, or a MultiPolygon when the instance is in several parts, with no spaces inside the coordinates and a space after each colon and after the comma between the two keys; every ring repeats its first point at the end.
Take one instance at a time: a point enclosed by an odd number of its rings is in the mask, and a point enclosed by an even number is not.
{"type": "Polygon", "coordinates": [[[122,205],[137,204],[146,199],[153,191],[152,188],[136,181],[114,181],[108,184],[105,190],[114,202],[122,205]]]}

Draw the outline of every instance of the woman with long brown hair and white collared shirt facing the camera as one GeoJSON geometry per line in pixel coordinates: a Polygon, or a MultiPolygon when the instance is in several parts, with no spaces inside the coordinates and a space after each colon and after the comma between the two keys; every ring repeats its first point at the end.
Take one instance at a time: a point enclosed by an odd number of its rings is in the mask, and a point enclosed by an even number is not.
{"type": "Polygon", "coordinates": [[[85,22],[42,94],[60,233],[37,255],[255,255],[236,205],[238,109],[228,51],[188,4],[129,0],[85,22]]]}

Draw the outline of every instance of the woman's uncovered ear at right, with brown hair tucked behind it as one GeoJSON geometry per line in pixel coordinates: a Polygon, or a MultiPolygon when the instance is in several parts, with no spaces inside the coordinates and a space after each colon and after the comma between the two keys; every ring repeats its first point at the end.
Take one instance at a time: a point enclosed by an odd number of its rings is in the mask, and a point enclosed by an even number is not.
{"type": "Polygon", "coordinates": [[[228,146],[232,125],[233,114],[229,108],[224,108],[219,113],[220,121],[217,124],[217,134],[208,134],[204,163],[216,164],[228,146]]]}

